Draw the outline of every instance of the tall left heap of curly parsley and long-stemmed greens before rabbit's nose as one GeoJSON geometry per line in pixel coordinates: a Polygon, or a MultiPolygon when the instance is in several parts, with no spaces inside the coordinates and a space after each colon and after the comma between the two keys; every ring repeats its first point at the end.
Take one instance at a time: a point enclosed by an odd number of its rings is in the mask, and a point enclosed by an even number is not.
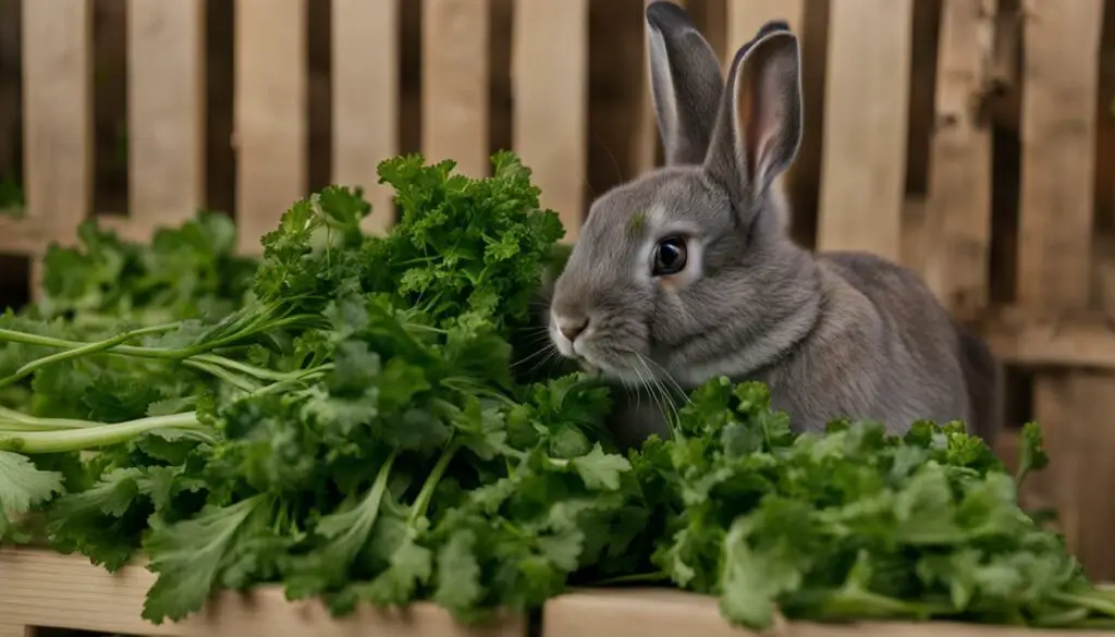
{"type": "Polygon", "coordinates": [[[563,229],[514,155],[493,163],[385,162],[386,237],[360,231],[358,191],[298,202],[235,311],[123,316],[99,340],[7,317],[0,385],[33,399],[0,412],[0,534],[109,569],[142,551],[155,622],[263,582],[336,612],[433,599],[477,618],[630,568],[647,510],[600,435],[607,388],[513,374],[563,229]]]}

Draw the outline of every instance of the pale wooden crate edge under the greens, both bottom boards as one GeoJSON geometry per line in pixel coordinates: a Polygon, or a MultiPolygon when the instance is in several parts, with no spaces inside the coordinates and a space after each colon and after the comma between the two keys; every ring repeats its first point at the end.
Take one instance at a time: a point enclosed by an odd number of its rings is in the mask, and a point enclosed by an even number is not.
{"type": "MultiPolygon", "coordinates": [[[[69,628],[101,634],[167,637],[526,637],[523,617],[465,626],[430,604],[406,610],[359,608],[334,619],[313,601],[288,601],[281,589],[217,595],[200,614],[154,626],[140,618],[154,582],[142,566],[117,573],[81,556],[42,550],[0,550],[0,637],[35,637],[37,629],[69,628]]],[[[539,637],[745,637],[729,626],[715,598],[663,589],[575,591],[549,602],[539,637]]],[[[764,635],[783,637],[1089,637],[1087,630],[1037,630],[961,624],[785,624],[764,635]]]]}

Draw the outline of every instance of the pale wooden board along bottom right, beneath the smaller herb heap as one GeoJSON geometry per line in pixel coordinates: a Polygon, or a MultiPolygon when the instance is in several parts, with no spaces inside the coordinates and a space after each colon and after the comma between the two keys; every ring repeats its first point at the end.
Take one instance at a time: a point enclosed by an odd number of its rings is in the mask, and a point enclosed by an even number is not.
{"type": "MultiPolygon", "coordinates": [[[[667,589],[573,592],[545,606],[542,637],[743,637],[728,625],[716,598],[667,589]]],[[[961,624],[780,624],[768,637],[1085,637],[1090,630],[1035,630],[961,624]]]]}

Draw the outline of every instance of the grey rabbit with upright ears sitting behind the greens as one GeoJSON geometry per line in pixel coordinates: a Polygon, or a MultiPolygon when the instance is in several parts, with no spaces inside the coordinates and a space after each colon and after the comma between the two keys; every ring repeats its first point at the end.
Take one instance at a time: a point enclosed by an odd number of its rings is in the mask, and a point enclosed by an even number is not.
{"type": "Polygon", "coordinates": [[[786,22],[764,25],[725,78],[682,8],[659,0],[646,20],[667,165],[591,203],[547,292],[552,345],[621,389],[615,443],[668,437],[680,394],[726,376],[765,383],[796,432],[962,419],[993,445],[1001,370],[987,344],[912,270],[788,237],[778,177],[803,98],[786,22]]]}

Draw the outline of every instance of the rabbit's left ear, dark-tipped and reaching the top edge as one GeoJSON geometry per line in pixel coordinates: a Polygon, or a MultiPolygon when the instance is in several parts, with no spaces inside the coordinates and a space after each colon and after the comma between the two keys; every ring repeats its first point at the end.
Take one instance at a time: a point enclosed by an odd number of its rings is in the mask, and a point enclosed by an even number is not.
{"type": "Polygon", "coordinates": [[[720,62],[681,7],[647,7],[650,86],[666,163],[700,164],[724,90],[720,62]]]}

